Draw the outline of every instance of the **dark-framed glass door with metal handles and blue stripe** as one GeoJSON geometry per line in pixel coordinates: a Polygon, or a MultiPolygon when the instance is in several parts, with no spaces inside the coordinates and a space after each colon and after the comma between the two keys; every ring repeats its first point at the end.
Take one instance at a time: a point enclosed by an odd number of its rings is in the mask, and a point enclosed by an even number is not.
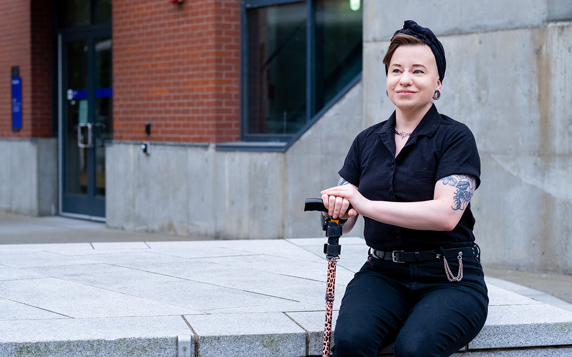
{"type": "Polygon", "coordinates": [[[61,37],[62,214],[105,218],[105,142],[113,135],[112,38],[61,37]]]}

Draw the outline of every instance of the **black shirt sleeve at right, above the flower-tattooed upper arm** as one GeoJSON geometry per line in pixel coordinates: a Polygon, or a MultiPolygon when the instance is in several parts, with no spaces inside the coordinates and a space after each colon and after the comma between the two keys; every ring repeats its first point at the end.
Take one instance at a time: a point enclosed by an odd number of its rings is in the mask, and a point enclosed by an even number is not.
{"type": "Polygon", "coordinates": [[[436,179],[440,180],[454,174],[474,176],[476,187],[480,185],[480,158],[475,137],[462,123],[457,123],[444,141],[436,179]]]}

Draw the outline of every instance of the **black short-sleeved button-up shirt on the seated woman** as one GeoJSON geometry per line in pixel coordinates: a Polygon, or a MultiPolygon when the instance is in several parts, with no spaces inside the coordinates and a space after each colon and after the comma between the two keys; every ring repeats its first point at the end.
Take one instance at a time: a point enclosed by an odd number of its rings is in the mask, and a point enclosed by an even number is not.
{"type": "MultiPolygon", "coordinates": [[[[466,125],[439,114],[433,105],[397,157],[394,128],[395,112],[387,121],[358,134],[339,171],[364,197],[392,202],[432,200],[436,182],[453,174],[472,175],[479,186],[479,153],[466,125]]],[[[433,250],[475,240],[470,204],[450,232],[412,230],[367,217],[364,220],[366,243],[382,251],[433,250]]]]}

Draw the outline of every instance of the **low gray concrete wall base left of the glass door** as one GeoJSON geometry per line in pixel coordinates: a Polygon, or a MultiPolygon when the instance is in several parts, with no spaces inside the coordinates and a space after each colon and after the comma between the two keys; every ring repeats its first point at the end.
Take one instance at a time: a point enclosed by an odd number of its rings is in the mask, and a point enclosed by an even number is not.
{"type": "Polygon", "coordinates": [[[25,215],[58,212],[58,142],[0,139],[0,209],[25,215]]]}

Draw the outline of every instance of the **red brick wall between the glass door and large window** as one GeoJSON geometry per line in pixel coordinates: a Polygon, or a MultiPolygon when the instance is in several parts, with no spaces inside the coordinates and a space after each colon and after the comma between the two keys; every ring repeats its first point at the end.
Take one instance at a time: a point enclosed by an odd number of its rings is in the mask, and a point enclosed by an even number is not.
{"type": "Polygon", "coordinates": [[[240,0],[113,1],[114,140],[239,139],[239,10],[240,0]]]}

